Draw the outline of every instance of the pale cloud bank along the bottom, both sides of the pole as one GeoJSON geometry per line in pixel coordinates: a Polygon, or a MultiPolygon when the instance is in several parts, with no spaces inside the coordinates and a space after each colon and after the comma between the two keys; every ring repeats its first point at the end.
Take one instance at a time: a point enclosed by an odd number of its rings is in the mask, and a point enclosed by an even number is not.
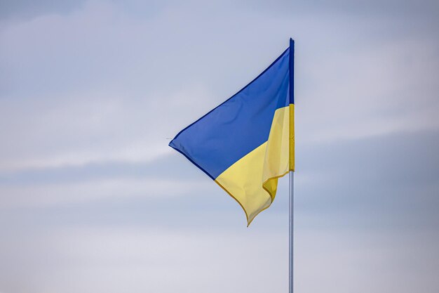
{"type": "MultiPolygon", "coordinates": [[[[252,230],[200,233],[120,226],[36,232],[30,234],[32,245],[20,241],[24,235],[1,244],[2,259],[11,263],[8,270],[0,267],[6,290],[144,292],[148,288],[167,293],[179,287],[194,293],[262,293],[288,288],[285,233],[264,230],[262,237],[252,230]],[[21,257],[11,259],[16,249],[21,257]],[[23,278],[27,282],[15,286],[23,278]]],[[[296,235],[295,288],[303,292],[412,292],[416,287],[433,292],[438,285],[434,278],[438,254],[428,253],[435,251],[437,235],[358,230],[347,235],[334,228],[300,229],[296,235]]]]}

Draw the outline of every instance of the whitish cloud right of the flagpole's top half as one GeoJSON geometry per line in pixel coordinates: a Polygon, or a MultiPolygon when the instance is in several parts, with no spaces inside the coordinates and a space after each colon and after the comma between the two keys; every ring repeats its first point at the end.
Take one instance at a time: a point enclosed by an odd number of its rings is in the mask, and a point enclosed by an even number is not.
{"type": "Polygon", "coordinates": [[[431,39],[407,37],[361,49],[337,46],[341,51],[331,48],[318,63],[297,60],[304,70],[297,78],[299,138],[320,143],[438,129],[438,48],[431,39]]]}

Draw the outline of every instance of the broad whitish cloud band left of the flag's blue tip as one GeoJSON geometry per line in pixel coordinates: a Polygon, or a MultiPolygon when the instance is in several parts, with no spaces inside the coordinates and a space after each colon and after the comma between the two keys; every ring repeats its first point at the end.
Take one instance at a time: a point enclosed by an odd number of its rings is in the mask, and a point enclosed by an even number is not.
{"type": "Polygon", "coordinates": [[[201,116],[209,93],[199,86],[150,93],[141,99],[116,93],[69,95],[50,103],[0,101],[0,170],[149,162],[171,152],[169,138],[201,116]],[[165,103],[158,102],[166,100],[165,103]],[[200,102],[196,103],[198,100],[200,102]]]}

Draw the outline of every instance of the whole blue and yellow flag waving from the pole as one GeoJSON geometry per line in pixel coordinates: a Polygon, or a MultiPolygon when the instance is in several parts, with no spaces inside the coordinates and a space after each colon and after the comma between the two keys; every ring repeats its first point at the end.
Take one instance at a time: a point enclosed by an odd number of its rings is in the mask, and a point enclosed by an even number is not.
{"type": "Polygon", "coordinates": [[[243,208],[248,225],[295,169],[294,41],[264,72],[169,143],[243,208]]]}

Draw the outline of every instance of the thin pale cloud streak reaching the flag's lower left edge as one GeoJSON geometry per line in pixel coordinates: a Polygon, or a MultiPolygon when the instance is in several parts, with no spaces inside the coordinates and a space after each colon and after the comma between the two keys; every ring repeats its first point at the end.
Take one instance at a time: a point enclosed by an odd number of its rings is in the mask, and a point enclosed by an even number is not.
{"type": "Polygon", "coordinates": [[[76,183],[0,186],[0,208],[53,207],[109,198],[178,197],[212,188],[210,181],[112,178],[76,183]]]}

